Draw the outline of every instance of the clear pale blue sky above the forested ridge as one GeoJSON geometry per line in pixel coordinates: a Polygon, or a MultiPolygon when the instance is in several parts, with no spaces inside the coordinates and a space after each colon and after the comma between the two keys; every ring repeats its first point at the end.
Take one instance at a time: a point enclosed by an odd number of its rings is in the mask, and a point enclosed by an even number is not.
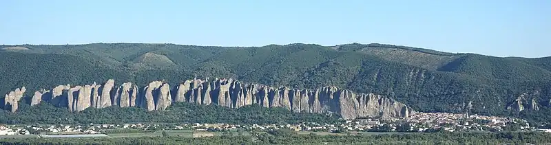
{"type": "Polygon", "coordinates": [[[0,43],[386,43],[551,56],[550,0],[1,0],[0,43]]]}

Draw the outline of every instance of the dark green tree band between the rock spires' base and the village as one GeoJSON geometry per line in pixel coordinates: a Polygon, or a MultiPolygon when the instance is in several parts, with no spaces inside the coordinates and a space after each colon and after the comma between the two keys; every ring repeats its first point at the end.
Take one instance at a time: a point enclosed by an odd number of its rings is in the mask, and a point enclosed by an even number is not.
{"type": "Polygon", "coordinates": [[[257,104],[230,109],[217,105],[176,102],[166,111],[146,111],[138,107],[107,107],[88,108],[79,113],[72,113],[67,109],[43,102],[34,107],[24,104],[16,113],[0,111],[0,124],[124,124],[129,122],[295,124],[338,121],[337,116],[293,113],[284,108],[265,108],[257,104]]]}

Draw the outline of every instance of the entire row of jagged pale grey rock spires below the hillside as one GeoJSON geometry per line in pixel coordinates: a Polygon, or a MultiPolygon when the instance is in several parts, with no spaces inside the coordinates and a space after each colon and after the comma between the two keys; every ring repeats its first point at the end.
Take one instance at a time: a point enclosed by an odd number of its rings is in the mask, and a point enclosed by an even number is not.
{"type": "MultiPolygon", "coordinates": [[[[6,104],[17,110],[17,101],[25,88],[6,95],[6,104]]],[[[114,80],[103,85],[60,85],[50,91],[36,91],[31,104],[48,101],[70,111],[83,111],[89,107],[143,107],[148,111],[163,111],[172,102],[216,104],[222,107],[240,108],[250,104],[262,107],[282,107],[297,113],[335,113],[344,119],[359,117],[407,118],[413,109],[391,98],[372,93],[354,93],[337,87],[320,89],[291,89],[265,85],[243,84],[232,79],[186,80],[171,88],[161,81],[150,82],[138,89],[131,82],[115,87],[114,80]],[[48,99],[43,99],[48,98],[48,99]]]]}

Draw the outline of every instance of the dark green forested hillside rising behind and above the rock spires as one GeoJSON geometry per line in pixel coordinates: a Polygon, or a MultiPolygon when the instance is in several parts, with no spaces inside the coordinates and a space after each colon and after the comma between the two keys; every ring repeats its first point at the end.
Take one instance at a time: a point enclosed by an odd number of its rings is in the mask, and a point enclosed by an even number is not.
{"type": "Polygon", "coordinates": [[[546,115],[551,107],[550,57],[499,58],[357,43],[0,45],[6,47],[27,49],[0,49],[0,93],[4,94],[22,86],[48,89],[109,78],[144,86],[152,80],[176,84],[198,76],[298,89],[334,85],[388,96],[422,112],[551,119],[546,115]]]}

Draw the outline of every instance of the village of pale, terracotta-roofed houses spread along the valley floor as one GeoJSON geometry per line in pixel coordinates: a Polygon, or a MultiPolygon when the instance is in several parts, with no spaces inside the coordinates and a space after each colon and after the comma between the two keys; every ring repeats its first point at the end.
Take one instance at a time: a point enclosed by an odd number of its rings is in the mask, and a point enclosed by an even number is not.
{"type": "Polygon", "coordinates": [[[518,118],[500,118],[485,115],[466,115],[461,113],[416,113],[403,120],[384,120],[364,118],[343,120],[335,124],[303,122],[300,124],[56,124],[56,125],[10,125],[0,126],[0,135],[63,135],[63,134],[105,134],[116,131],[269,131],[271,129],[290,129],[311,132],[411,132],[430,133],[440,131],[545,131],[530,126],[526,120],[518,118]]]}

